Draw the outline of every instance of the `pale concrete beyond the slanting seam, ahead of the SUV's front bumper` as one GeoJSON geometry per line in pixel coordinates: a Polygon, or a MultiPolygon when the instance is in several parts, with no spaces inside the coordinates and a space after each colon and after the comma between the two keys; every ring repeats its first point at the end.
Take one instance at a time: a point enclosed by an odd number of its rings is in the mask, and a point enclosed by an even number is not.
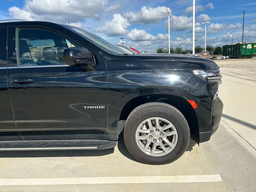
{"type": "Polygon", "coordinates": [[[216,61],[223,79],[222,120],[256,149],[256,58],[216,61]]]}

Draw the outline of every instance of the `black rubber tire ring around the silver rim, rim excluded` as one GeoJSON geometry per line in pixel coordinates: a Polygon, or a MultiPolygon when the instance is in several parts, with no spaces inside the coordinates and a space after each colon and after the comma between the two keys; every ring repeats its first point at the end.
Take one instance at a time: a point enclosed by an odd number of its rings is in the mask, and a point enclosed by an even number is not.
{"type": "Polygon", "coordinates": [[[180,158],[182,154],[188,148],[190,141],[190,132],[188,123],[182,114],[179,114],[178,110],[173,110],[165,106],[150,106],[142,108],[135,112],[128,120],[126,127],[125,137],[127,139],[128,147],[132,150],[132,155],[138,160],[148,164],[167,164],[180,158]],[[150,156],[138,147],[136,143],[136,130],[138,126],[146,119],[152,117],[165,118],[170,121],[178,132],[178,141],[174,149],[164,156],[150,156]]]}

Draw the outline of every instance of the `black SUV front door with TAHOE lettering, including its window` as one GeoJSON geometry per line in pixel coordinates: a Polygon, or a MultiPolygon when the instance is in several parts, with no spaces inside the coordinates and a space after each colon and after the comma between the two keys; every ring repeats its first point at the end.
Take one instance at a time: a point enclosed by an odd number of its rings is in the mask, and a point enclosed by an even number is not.
{"type": "Polygon", "coordinates": [[[43,27],[10,27],[8,42],[8,84],[23,138],[103,138],[108,111],[104,60],[93,53],[96,71],[67,66],[64,49],[79,45],[43,27]]]}

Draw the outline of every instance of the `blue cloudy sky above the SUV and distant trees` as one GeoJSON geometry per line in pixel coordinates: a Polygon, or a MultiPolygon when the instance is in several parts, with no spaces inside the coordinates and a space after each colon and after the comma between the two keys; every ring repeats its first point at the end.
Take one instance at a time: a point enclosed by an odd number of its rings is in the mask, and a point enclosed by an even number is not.
{"type": "MultiPolygon", "coordinates": [[[[0,20],[25,19],[78,26],[103,38],[141,52],[168,48],[168,15],[171,46],[192,49],[192,0],[0,0],[0,20]]],[[[223,46],[256,42],[255,0],[196,0],[196,45],[223,46]]]]}

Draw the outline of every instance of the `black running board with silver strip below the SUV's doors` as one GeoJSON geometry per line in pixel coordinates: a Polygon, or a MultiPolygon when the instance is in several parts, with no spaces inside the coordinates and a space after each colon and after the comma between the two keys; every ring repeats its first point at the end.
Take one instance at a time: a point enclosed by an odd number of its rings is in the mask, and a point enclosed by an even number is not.
{"type": "Polygon", "coordinates": [[[117,141],[98,139],[0,141],[0,151],[100,150],[113,148],[116,143],[117,141]]]}

